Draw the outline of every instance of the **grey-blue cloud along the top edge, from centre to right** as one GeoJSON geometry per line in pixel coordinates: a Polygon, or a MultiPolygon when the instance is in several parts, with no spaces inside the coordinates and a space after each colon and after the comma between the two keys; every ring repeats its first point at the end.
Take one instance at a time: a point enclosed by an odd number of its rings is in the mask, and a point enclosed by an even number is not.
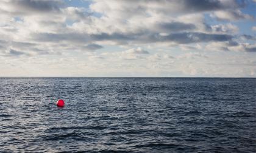
{"type": "MultiPolygon", "coordinates": [[[[102,2],[102,1],[101,1],[102,2]]],[[[193,12],[208,12],[214,10],[222,10],[222,9],[238,9],[245,5],[245,2],[242,1],[221,1],[221,0],[140,0],[140,1],[113,1],[116,5],[116,10],[120,12],[120,15],[124,17],[129,17],[130,15],[144,15],[148,10],[154,9],[154,12],[160,13],[193,13],[193,12]],[[120,7],[118,7],[120,6],[120,7]],[[122,7],[126,6],[126,7],[122,7]],[[151,7],[157,6],[157,7],[151,7]],[[132,9],[131,9],[132,8],[132,9]],[[170,9],[171,8],[171,9],[170,9]],[[124,13],[125,12],[125,13],[124,13]]],[[[105,3],[98,3],[98,1],[94,2],[91,7],[96,10],[96,12],[105,13],[107,10],[107,6],[104,8],[105,3]],[[100,7],[97,7],[100,6],[100,7]],[[99,9],[101,8],[101,9],[99,9]],[[102,10],[103,8],[103,10],[102,10]]],[[[111,5],[111,4],[110,4],[111,5]]]]}

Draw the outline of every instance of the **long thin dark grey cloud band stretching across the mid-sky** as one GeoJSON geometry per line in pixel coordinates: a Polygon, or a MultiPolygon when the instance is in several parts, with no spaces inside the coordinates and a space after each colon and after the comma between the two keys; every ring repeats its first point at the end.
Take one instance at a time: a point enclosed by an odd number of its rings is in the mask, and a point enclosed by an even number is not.
{"type": "Polygon", "coordinates": [[[33,38],[37,41],[59,42],[68,41],[76,43],[90,43],[93,41],[115,41],[119,44],[133,43],[150,43],[150,42],[177,42],[180,44],[188,44],[193,42],[208,41],[230,41],[232,35],[224,34],[207,34],[196,32],[171,33],[161,36],[157,33],[99,33],[99,34],[82,34],[82,33],[34,33],[33,38]]]}

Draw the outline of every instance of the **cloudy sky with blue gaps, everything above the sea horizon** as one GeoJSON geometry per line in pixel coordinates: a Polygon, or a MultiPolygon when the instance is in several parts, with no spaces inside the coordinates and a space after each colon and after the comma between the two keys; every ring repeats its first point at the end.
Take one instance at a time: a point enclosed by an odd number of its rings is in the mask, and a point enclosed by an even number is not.
{"type": "Polygon", "coordinates": [[[256,77],[256,0],[1,0],[0,77],[256,77]]]}

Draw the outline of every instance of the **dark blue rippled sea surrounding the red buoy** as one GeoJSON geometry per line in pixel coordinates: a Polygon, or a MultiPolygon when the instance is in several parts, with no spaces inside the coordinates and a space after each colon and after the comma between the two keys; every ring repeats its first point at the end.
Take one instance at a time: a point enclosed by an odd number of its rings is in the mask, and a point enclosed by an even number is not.
{"type": "Polygon", "coordinates": [[[0,151],[256,152],[256,79],[0,78],[0,151]]]}

